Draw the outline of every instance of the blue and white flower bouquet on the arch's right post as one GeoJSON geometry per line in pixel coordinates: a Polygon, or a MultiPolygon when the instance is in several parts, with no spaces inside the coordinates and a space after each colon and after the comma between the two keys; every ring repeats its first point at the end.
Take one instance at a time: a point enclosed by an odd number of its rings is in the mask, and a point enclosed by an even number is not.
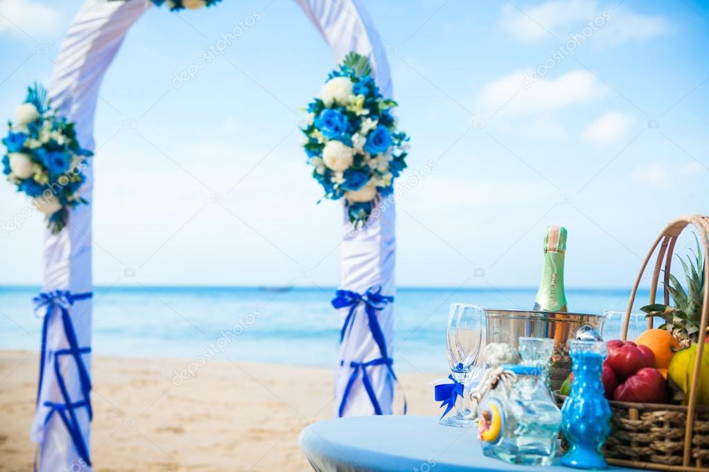
{"type": "Polygon", "coordinates": [[[308,163],[325,198],[345,197],[347,214],[361,227],[379,197],[393,192],[406,168],[408,136],[398,131],[391,109],[372,79],[367,57],[350,52],[328,76],[320,96],[308,104],[302,129],[308,163]]]}

